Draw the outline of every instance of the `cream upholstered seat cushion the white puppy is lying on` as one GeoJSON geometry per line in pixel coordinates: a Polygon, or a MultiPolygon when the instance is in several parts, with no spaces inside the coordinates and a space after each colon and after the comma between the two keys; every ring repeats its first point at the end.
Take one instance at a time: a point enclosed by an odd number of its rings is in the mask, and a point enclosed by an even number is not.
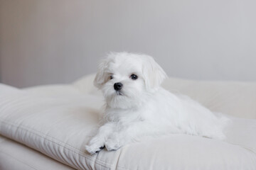
{"type": "MultiPolygon", "coordinates": [[[[1,85],[5,93],[0,95],[0,134],[75,169],[256,169],[255,119],[231,117],[226,142],[168,135],[87,154],[84,146],[103,103],[87,85],[90,79],[23,90],[1,85]]],[[[253,109],[247,116],[254,116],[253,109]]]]}

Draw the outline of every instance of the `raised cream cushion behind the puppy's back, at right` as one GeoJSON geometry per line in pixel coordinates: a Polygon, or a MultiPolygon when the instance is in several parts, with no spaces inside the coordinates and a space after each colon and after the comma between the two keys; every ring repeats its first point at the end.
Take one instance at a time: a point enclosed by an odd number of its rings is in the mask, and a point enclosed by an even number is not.
{"type": "Polygon", "coordinates": [[[164,87],[191,96],[211,111],[256,118],[256,83],[168,79],[164,87]]]}

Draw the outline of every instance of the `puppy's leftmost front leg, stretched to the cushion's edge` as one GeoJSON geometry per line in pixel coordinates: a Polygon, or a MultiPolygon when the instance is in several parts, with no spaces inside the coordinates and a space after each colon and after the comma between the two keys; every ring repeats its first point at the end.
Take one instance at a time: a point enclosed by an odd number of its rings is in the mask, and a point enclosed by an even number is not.
{"type": "Polygon", "coordinates": [[[87,152],[95,154],[103,149],[105,147],[104,145],[107,137],[114,132],[114,126],[114,123],[106,123],[105,125],[102,125],[97,131],[95,137],[92,137],[88,145],[85,145],[87,152]]]}

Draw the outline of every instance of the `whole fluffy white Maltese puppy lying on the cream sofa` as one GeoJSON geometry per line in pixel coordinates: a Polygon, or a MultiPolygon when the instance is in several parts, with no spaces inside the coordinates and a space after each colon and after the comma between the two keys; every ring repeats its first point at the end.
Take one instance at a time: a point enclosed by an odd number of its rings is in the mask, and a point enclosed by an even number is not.
{"type": "Polygon", "coordinates": [[[166,91],[160,86],[166,77],[149,55],[116,52],[105,57],[94,80],[105,97],[105,113],[87,152],[116,150],[145,135],[183,133],[223,140],[228,118],[166,91]]]}

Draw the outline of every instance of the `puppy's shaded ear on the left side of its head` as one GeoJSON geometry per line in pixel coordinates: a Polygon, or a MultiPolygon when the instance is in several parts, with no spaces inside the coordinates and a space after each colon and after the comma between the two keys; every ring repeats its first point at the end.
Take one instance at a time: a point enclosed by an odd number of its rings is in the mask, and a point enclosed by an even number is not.
{"type": "Polygon", "coordinates": [[[105,84],[105,82],[109,78],[108,74],[106,72],[107,65],[108,65],[108,59],[107,59],[107,57],[105,57],[100,61],[100,64],[99,64],[99,67],[98,67],[98,70],[97,70],[97,74],[96,74],[95,79],[93,81],[93,84],[98,89],[101,89],[103,84],[105,84]]]}

